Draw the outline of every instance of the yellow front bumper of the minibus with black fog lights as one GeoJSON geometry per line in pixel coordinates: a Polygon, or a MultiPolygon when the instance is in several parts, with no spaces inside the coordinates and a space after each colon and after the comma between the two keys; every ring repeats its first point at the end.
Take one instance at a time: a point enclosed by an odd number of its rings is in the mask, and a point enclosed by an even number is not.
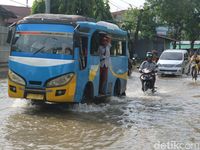
{"type": "Polygon", "coordinates": [[[8,79],[8,95],[13,98],[25,98],[48,102],[74,102],[76,77],[60,87],[46,89],[26,88],[8,79]]]}

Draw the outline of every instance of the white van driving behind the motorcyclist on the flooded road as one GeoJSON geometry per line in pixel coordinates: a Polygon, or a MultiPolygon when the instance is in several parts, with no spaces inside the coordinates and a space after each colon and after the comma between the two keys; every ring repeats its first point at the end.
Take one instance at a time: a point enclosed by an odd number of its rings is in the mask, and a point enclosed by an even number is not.
{"type": "Polygon", "coordinates": [[[182,75],[189,71],[187,50],[168,49],[163,51],[158,62],[159,75],[182,75]]]}

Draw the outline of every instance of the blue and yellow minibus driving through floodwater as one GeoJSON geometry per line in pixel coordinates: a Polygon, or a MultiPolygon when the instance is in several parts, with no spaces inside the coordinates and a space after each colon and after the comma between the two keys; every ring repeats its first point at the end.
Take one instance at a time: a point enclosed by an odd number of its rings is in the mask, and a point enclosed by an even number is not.
{"type": "Polygon", "coordinates": [[[100,33],[112,38],[105,96],[125,94],[127,32],[78,15],[35,14],[10,27],[8,95],[44,102],[87,102],[99,94],[100,33]]]}

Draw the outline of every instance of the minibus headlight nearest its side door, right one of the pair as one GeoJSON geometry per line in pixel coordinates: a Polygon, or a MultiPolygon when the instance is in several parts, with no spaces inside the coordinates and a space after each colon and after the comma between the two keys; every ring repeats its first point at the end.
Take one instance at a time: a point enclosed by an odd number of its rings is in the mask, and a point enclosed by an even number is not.
{"type": "Polygon", "coordinates": [[[56,87],[67,84],[73,77],[73,73],[65,74],[47,82],[46,87],[56,87]]]}

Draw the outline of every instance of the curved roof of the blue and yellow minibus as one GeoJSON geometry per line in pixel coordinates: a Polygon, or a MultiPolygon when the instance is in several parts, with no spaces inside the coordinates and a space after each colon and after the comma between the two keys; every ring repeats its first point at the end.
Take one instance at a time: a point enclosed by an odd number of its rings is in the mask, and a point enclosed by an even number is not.
{"type": "Polygon", "coordinates": [[[89,27],[94,30],[103,30],[108,33],[117,33],[127,35],[127,32],[120,29],[116,24],[99,21],[96,22],[93,18],[88,18],[80,15],[64,15],[64,14],[34,14],[24,17],[18,24],[71,24],[81,27],[89,27]]]}

